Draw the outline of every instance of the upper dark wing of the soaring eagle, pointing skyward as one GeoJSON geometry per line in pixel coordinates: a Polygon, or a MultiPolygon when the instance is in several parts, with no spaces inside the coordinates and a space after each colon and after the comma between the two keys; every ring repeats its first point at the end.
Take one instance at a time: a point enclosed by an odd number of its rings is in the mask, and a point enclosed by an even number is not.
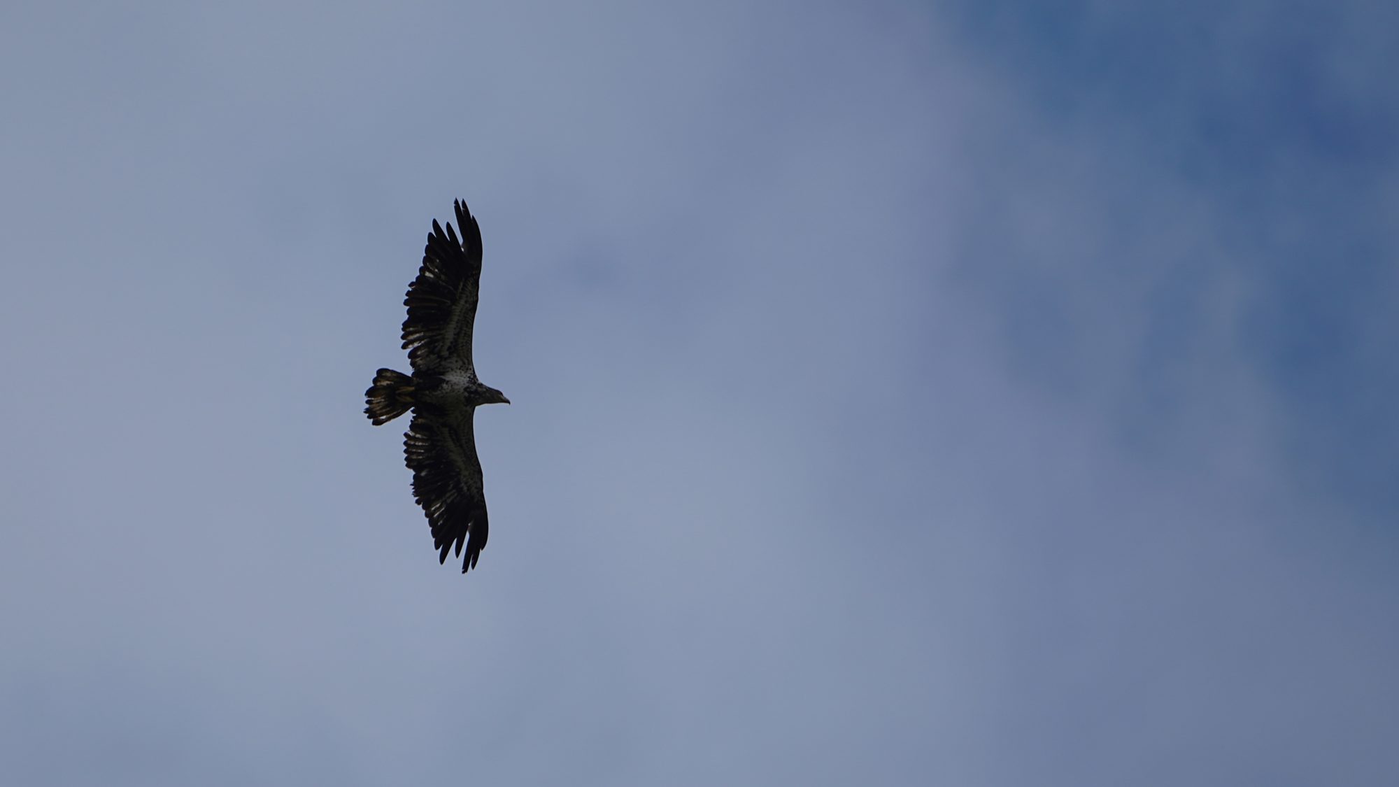
{"type": "Polygon", "coordinates": [[[432,220],[422,266],[403,300],[409,307],[403,349],[409,350],[414,370],[435,374],[464,370],[474,375],[471,326],[481,281],[481,227],[464,202],[453,204],[462,238],[457,239],[450,221],[443,232],[436,218],[432,220]]]}

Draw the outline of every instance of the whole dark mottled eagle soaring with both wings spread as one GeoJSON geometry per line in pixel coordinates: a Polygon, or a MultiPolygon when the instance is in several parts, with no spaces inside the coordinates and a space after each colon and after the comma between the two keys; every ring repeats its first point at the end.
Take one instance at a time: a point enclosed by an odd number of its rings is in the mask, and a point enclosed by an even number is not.
{"type": "Polygon", "coordinates": [[[481,489],[481,461],[476,455],[471,423],[480,405],[511,401],[483,385],[471,363],[471,328],[481,280],[481,228],[466,203],[456,200],[460,239],[432,220],[422,249],[422,266],[409,284],[403,305],[403,349],[413,374],[381,368],[365,391],[365,415],[382,426],[413,410],[403,434],[403,459],[413,471],[413,497],[432,528],[438,563],[455,548],[462,573],[476,567],[490,521],[481,489]]]}

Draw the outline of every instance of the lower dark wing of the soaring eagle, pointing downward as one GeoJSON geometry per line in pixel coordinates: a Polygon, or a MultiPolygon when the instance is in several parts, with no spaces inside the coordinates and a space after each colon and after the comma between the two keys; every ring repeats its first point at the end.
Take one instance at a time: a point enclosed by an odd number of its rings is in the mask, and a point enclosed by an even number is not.
{"type": "Polygon", "coordinates": [[[460,557],[462,543],[466,542],[463,574],[476,567],[490,535],[485,494],[481,492],[481,461],[476,457],[471,429],[474,413],[476,408],[443,410],[420,406],[403,436],[403,457],[413,471],[413,497],[422,506],[432,527],[438,562],[446,563],[453,545],[460,557]]]}

